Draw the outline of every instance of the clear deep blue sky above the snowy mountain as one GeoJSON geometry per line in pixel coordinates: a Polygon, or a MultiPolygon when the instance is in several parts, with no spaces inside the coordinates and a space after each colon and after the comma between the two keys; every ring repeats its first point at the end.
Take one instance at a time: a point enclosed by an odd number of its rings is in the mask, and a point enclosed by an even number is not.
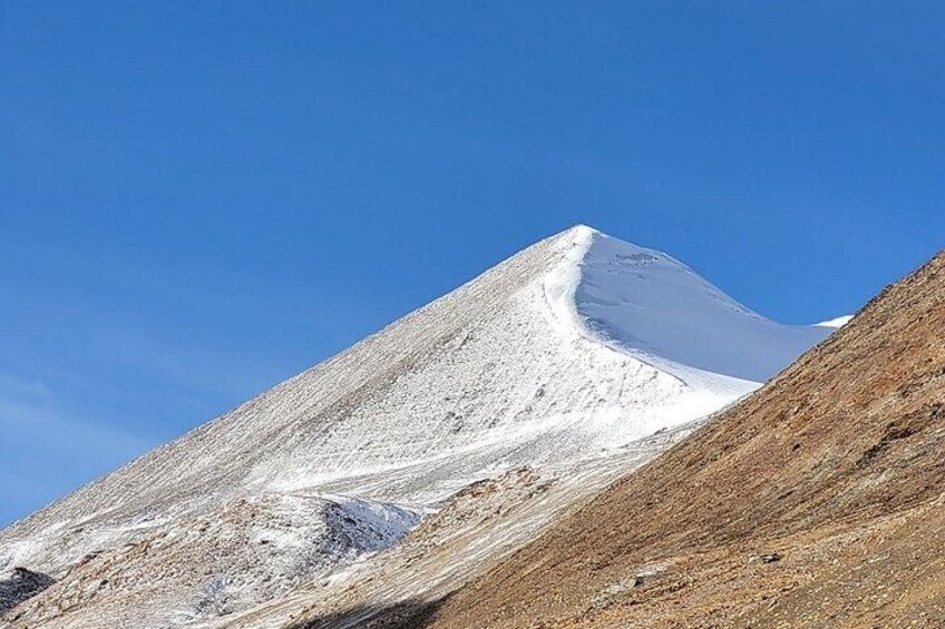
{"type": "Polygon", "coordinates": [[[575,223],[851,312],[945,243],[943,7],[0,3],[0,523],[575,223]]]}

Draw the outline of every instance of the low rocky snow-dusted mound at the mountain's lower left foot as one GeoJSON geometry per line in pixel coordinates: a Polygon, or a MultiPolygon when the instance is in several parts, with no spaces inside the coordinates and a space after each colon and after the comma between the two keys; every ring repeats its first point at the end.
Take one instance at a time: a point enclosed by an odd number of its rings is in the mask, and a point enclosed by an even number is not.
{"type": "Polygon", "coordinates": [[[147,529],[115,550],[90,552],[35,599],[40,606],[26,619],[8,618],[29,626],[167,627],[225,617],[388,548],[419,522],[417,512],[352,498],[236,498],[147,529]]]}

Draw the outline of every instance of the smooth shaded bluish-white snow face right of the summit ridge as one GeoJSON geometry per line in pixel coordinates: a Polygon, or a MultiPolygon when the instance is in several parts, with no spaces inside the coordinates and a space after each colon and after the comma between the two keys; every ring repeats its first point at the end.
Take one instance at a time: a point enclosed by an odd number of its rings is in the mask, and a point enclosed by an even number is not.
{"type": "Polygon", "coordinates": [[[827,334],[774,323],[662,252],[584,225],[557,239],[564,262],[545,276],[557,318],[684,381],[698,370],[763,382],[827,334]]]}

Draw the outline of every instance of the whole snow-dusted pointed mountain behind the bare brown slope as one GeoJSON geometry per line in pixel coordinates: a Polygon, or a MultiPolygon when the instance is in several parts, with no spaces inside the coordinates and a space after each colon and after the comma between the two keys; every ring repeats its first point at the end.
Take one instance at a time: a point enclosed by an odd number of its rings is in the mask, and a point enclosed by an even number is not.
{"type": "Polygon", "coordinates": [[[456,587],[830,332],[575,227],[0,532],[0,570],[57,580],[3,621],[246,625],[312,583],[456,587]],[[418,584],[398,570],[429,540],[451,557],[418,584]]]}

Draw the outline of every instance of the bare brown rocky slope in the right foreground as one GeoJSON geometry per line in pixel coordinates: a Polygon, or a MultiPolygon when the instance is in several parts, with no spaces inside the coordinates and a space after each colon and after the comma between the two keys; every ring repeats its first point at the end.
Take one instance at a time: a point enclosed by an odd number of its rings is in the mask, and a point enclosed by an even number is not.
{"type": "Polygon", "coordinates": [[[484,578],[386,619],[942,627],[943,568],[945,253],[484,578]]]}

